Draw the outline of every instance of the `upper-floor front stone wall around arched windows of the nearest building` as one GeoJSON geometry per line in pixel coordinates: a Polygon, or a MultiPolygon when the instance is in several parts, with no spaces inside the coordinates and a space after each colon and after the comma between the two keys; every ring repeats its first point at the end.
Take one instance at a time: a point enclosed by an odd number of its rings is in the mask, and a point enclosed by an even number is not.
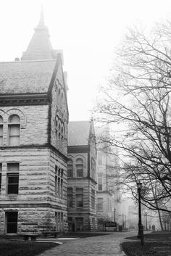
{"type": "Polygon", "coordinates": [[[49,105],[30,105],[0,108],[4,120],[3,146],[8,146],[8,120],[10,115],[20,117],[20,146],[40,145],[48,142],[49,105]]]}

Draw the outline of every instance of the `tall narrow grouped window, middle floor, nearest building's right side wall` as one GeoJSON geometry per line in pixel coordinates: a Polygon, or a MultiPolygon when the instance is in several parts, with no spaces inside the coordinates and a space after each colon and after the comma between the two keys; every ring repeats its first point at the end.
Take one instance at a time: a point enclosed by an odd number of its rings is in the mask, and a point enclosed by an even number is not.
{"type": "Polygon", "coordinates": [[[63,175],[64,170],[55,167],[55,196],[63,198],[63,175]]]}

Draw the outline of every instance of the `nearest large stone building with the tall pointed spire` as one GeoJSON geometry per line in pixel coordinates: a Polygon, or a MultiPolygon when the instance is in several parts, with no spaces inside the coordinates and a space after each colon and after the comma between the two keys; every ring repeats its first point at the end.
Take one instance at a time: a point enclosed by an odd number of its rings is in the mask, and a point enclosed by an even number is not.
{"type": "Polygon", "coordinates": [[[67,94],[43,14],[22,61],[0,63],[0,234],[67,231],[67,94]]]}

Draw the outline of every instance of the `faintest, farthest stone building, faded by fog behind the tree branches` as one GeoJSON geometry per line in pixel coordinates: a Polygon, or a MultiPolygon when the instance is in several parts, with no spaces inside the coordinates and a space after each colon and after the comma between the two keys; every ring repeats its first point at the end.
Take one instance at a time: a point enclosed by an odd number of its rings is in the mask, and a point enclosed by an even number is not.
{"type": "Polygon", "coordinates": [[[104,230],[108,221],[116,221],[119,213],[118,199],[120,197],[117,180],[119,178],[116,152],[103,142],[104,136],[109,136],[109,127],[96,128],[97,143],[97,217],[98,228],[104,230]],[[102,140],[101,140],[102,139],[102,140]],[[102,142],[100,142],[102,141],[102,142]]]}

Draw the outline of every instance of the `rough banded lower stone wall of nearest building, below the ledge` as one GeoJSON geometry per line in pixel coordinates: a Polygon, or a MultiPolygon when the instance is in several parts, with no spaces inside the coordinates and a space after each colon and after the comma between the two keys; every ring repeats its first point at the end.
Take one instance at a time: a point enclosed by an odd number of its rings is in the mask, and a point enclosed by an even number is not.
{"type": "Polygon", "coordinates": [[[66,163],[49,148],[4,149],[1,152],[1,234],[5,233],[5,212],[18,212],[18,233],[41,231],[43,219],[50,213],[51,225],[55,226],[55,212],[63,212],[64,231],[67,231],[67,177],[66,163]],[[52,157],[53,156],[53,157],[52,157]],[[19,192],[7,194],[7,163],[19,162],[19,192]],[[51,164],[53,162],[53,164],[51,164]],[[60,164],[59,164],[60,163],[60,164]],[[54,193],[55,165],[64,169],[64,197],[54,193]]]}

